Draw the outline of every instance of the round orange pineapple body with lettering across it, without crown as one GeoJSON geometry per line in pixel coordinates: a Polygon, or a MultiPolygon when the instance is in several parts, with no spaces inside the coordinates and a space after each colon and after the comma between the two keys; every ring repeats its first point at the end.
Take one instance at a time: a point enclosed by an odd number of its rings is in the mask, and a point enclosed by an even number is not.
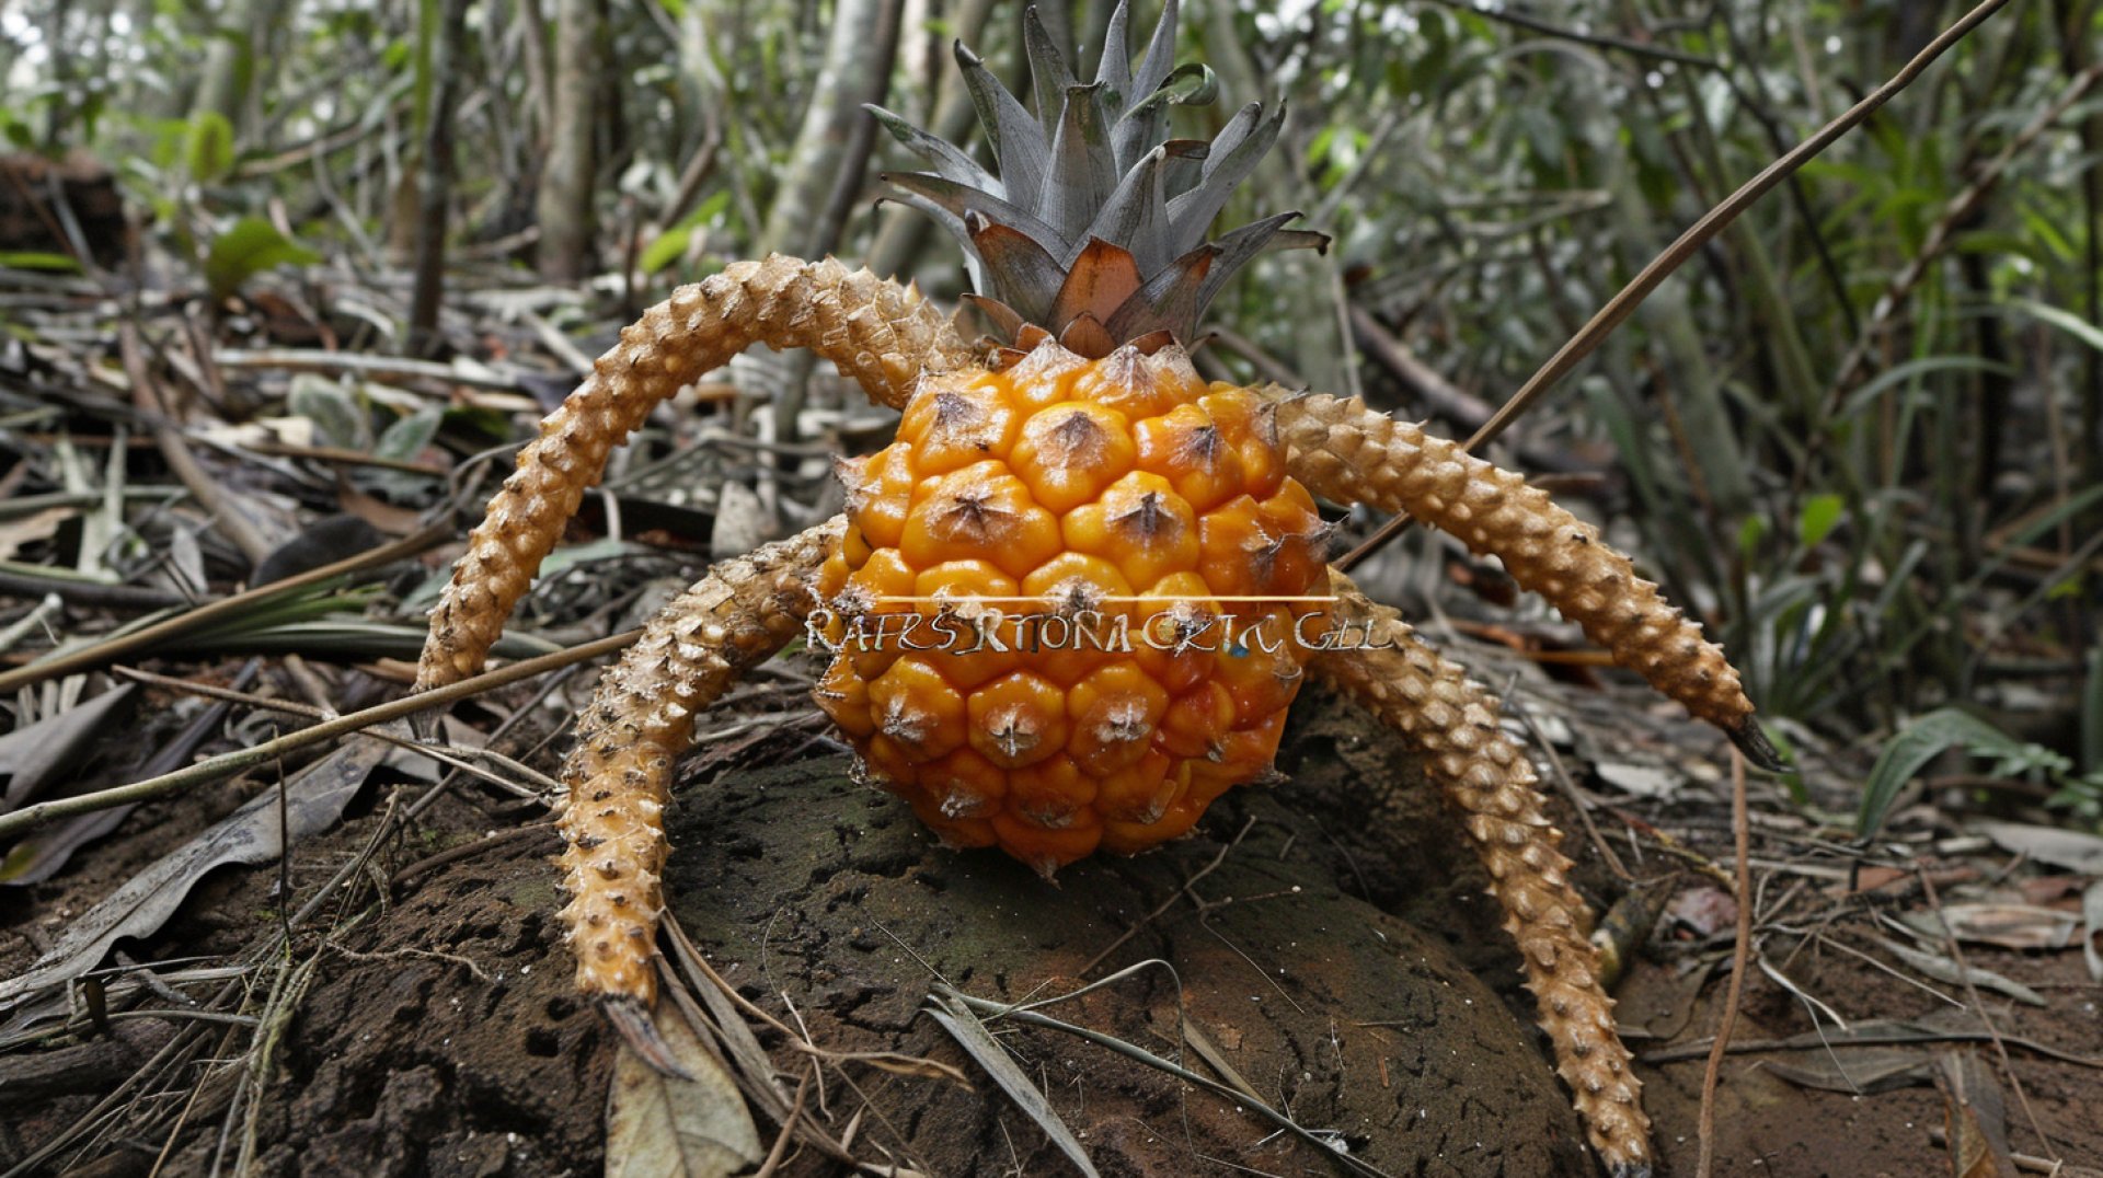
{"type": "Polygon", "coordinates": [[[841,478],[818,703],[946,841],[1049,875],[1270,772],[1327,528],[1255,393],[1047,339],[925,381],[841,478]]]}

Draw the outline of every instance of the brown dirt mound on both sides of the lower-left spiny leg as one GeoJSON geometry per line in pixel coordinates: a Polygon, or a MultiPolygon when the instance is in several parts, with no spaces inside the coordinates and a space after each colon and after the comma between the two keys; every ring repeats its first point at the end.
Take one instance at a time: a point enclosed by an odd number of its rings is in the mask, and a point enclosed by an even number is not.
{"type": "MultiPolygon", "coordinates": [[[[1047,884],[993,852],[948,852],[896,799],[856,785],[843,757],[734,772],[671,812],[673,913],[753,1003],[833,1052],[904,1052],[974,1077],[826,1075],[833,1132],[925,1174],[1058,1174],[1049,1138],[919,1014],[946,980],[986,999],[1068,993],[1161,959],[1045,1014],[1192,1071],[1222,1064],[1274,1109],[1392,1174],[1590,1174],[1569,1100],[1514,1018],[1516,959],[1472,856],[1422,785],[1367,822],[1375,780],[1403,761],[1348,726],[1302,732],[1304,778],[1224,799],[1199,835],[1140,858],[1091,858],[1047,884]],[[1333,749],[1369,749],[1350,768],[1333,749]],[[1377,751],[1371,751],[1377,749],[1377,751]],[[1407,810],[1415,808],[1415,818],[1407,810]],[[1396,871],[1409,860],[1413,871],[1396,871]],[[1363,873],[1424,888],[1443,915],[1422,932],[1350,892],[1363,873]],[[1438,879],[1436,888],[1428,881],[1438,879]],[[1457,959],[1489,961],[1499,995],[1457,959]],[[1180,1045],[1178,1020],[1213,1056],[1180,1045]]],[[[446,808],[433,810],[444,822],[446,808]]],[[[452,822],[469,822],[465,806],[452,822]]],[[[349,844],[358,825],[341,833],[349,844]]],[[[479,831],[473,831],[479,835],[479,831]]],[[[467,837],[458,831],[450,837],[467,837]]],[[[437,837],[437,835],[427,835],[437,837]]],[[[334,839],[332,839],[334,841],[334,839]]],[[[469,850],[397,881],[393,902],[324,951],[275,1050],[257,1117],[273,1174],[587,1174],[604,1167],[612,1039],[570,991],[557,945],[551,833],[469,850]]],[[[265,873],[215,902],[242,907],[265,873]]],[[[1199,1159],[1329,1172],[1304,1140],[1058,1031],[997,1024],[1104,1174],[1180,1174],[1199,1159]]],[[[759,1029],[784,1075],[805,1056],[759,1029]]],[[[793,1088],[793,1079],[789,1085],[793,1088]]],[[[200,1113],[225,1092],[200,1098],[200,1113]]],[[[772,1136],[776,1125],[761,1123],[772,1136]]],[[[183,1136],[177,1174],[206,1172],[217,1132],[183,1136]]],[[[149,1163],[145,1153],[111,1161],[149,1163]]],[[[118,1170],[122,1172],[122,1167],[118,1170]]],[[[831,1174],[818,1155],[789,1172],[831,1174]]]]}

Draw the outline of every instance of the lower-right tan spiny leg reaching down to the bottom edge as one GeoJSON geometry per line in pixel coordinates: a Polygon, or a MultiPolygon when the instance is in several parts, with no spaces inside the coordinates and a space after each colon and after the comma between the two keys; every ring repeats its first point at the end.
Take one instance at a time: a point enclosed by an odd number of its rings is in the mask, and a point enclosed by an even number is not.
{"type": "Polygon", "coordinates": [[[1363,627],[1367,648],[1321,652],[1310,667],[1428,755],[1489,869],[1504,930],[1518,942],[1527,989],[1592,1149],[1617,1178],[1649,1174],[1651,1119],[1613,1027],[1613,999],[1598,984],[1598,953],[1586,940],[1592,911],[1567,879],[1563,831],[1541,814],[1533,766],[1497,726],[1497,698],[1342,572],[1331,572],[1331,593],[1338,621],[1363,627]]]}

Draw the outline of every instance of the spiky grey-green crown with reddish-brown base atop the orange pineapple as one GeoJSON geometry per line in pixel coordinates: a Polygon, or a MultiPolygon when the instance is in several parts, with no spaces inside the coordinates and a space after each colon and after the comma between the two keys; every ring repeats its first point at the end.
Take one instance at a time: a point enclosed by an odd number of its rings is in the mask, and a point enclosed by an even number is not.
{"type": "Polygon", "coordinates": [[[1037,114],[957,42],[997,175],[957,145],[869,107],[932,168],[885,172],[883,181],[963,244],[976,288],[967,299],[1018,347],[1039,332],[1091,358],[1123,343],[1152,351],[1190,341],[1199,316],[1251,259],[1329,244],[1323,233],[1285,229],[1298,212],[1207,240],[1226,198],[1277,143],[1285,103],[1270,118],[1262,103],[1249,103],[1211,143],[1167,139],[1169,107],[1211,103],[1218,84],[1205,65],[1176,65],[1176,0],[1163,6],[1138,74],[1127,17],[1129,0],[1121,0],[1096,80],[1079,82],[1037,8],[1024,15],[1037,114]]]}

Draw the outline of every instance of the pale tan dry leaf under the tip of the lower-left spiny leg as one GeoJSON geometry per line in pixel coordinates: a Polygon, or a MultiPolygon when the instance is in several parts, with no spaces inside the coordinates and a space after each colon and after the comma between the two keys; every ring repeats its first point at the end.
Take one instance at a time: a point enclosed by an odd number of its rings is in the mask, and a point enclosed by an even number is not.
{"type": "Polygon", "coordinates": [[[652,1022],[692,1079],[669,1077],[620,1045],[606,1100],[608,1178],[726,1178],[759,1163],[759,1130],[723,1064],[673,1003],[652,1022]]]}

